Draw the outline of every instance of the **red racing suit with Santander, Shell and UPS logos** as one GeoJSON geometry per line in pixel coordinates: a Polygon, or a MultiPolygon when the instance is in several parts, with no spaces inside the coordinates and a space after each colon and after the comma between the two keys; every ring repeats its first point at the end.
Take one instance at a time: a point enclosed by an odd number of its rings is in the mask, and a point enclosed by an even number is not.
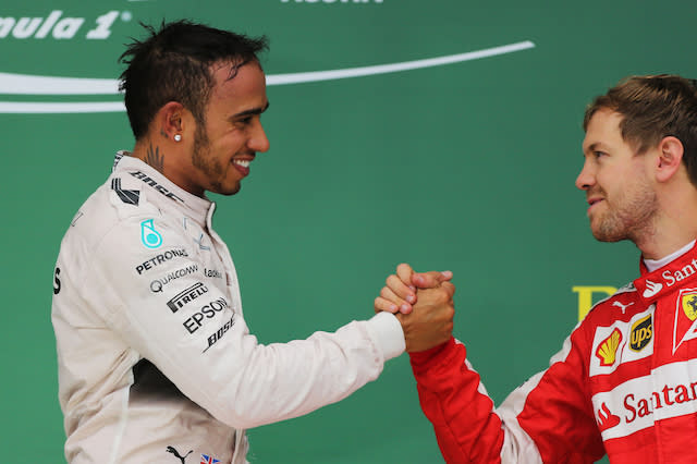
{"type": "Polygon", "coordinates": [[[411,356],[449,463],[697,462],[697,247],[640,267],[498,408],[462,343],[411,356]]]}

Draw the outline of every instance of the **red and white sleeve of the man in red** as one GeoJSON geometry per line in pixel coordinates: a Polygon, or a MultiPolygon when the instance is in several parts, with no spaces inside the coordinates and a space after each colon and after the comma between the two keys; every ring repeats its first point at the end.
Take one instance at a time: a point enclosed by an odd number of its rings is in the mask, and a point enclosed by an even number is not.
{"type": "Polygon", "coordinates": [[[604,454],[577,328],[550,367],[494,408],[465,345],[411,356],[424,413],[448,463],[588,463],[604,454]]]}

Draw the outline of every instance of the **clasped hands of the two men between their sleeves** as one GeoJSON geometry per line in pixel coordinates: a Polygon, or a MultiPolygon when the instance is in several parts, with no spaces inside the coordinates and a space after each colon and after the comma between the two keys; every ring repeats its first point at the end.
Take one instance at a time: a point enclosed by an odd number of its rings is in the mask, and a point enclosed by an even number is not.
{"type": "Polygon", "coordinates": [[[401,264],[375,298],[376,313],[392,313],[402,323],[407,352],[429,350],[452,337],[452,277],[450,271],[417,273],[409,265],[401,264]]]}

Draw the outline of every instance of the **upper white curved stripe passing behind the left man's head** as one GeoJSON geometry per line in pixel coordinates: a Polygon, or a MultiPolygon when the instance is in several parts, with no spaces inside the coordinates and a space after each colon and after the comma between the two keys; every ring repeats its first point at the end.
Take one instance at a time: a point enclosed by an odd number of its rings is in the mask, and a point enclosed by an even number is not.
{"type": "MultiPolygon", "coordinates": [[[[348,68],[345,70],[311,71],[306,73],[272,74],[266,77],[267,85],[301,84],[306,82],[331,81],[375,74],[396,73],[423,68],[472,61],[498,54],[534,48],[529,40],[501,47],[487,48],[467,53],[405,61],[402,63],[378,64],[375,66],[348,68]]],[[[119,81],[109,78],[53,77],[30,74],[0,73],[0,94],[5,95],[114,95],[119,94],[119,81]]]]}

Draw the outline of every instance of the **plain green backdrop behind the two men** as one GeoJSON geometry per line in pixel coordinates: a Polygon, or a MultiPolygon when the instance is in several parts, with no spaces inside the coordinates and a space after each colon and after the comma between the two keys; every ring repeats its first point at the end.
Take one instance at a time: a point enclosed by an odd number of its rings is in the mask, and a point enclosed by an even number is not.
{"type": "MultiPolygon", "coordinates": [[[[268,35],[270,83],[534,44],[445,65],[269,86],[271,150],[257,158],[239,195],[216,198],[217,230],[262,343],[369,317],[401,261],[451,269],[455,334],[499,403],[546,367],[577,322],[572,288],[619,286],[637,274],[632,244],[598,244],[588,231],[584,195],[574,187],[583,111],[628,74],[696,77],[694,1],[5,0],[5,456],[63,462],[53,264],[113,152],[133,146],[124,112],[65,112],[84,102],[118,106],[113,91],[56,95],[61,82],[46,89],[8,74],[114,80],[123,44],[142,35],[138,22],[182,17],[268,35]],[[87,38],[90,30],[101,38],[87,38]]],[[[249,457],[259,463],[442,462],[406,356],[343,402],[249,436],[249,457]]]]}

